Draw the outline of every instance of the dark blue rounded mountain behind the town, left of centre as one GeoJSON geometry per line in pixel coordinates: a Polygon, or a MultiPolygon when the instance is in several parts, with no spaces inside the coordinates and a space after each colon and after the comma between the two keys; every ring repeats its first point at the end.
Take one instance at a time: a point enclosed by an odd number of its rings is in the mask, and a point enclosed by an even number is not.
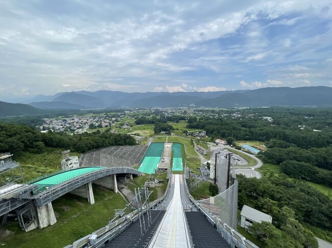
{"type": "Polygon", "coordinates": [[[107,105],[97,97],[78,94],[75,92],[66,92],[54,98],[53,102],[68,102],[72,104],[83,105],[85,108],[104,108],[107,105]]]}

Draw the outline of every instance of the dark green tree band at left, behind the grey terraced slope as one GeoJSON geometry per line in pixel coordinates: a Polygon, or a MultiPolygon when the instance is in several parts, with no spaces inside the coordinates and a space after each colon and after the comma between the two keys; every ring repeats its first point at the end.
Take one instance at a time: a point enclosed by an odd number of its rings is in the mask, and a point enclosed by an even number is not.
{"type": "Polygon", "coordinates": [[[46,147],[70,149],[76,152],[86,152],[91,149],[107,146],[136,145],[135,139],[128,134],[99,131],[69,135],[65,133],[41,133],[25,125],[0,123],[0,153],[12,152],[19,155],[22,152],[41,153],[46,147]]]}

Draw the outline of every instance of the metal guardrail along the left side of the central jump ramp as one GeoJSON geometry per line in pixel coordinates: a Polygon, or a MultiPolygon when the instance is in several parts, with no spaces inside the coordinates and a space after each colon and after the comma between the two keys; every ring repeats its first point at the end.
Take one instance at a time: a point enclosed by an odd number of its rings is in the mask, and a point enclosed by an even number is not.
{"type": "MultiPolygon", "coordinates": [[[[168,182],[167,189],[164,195],[150,204],[151,209],[155,208],[160,203],[163,203],[164,199],[168,196],[170,190],[171,178],[168,182]]],[[[148,210],[148,208],[144,206],[142,210],[143,213],[145,213],[148,210]]],[[[75,241],[73,244],[65,246],[64,248],[102,247],[104,246],[105,242],[112,240],[116,235],[125,230],[129,225],[137,221],[137,219],[138,219],[138,212],[137,210],[135,210],[127,214],[126,216],[117,219],[117,221],[114,221],[113,223],[110,223],[107,226],[93,232],[92,234],[88,234],[85,237],[80,238],[79,240],[75,241]]]]}

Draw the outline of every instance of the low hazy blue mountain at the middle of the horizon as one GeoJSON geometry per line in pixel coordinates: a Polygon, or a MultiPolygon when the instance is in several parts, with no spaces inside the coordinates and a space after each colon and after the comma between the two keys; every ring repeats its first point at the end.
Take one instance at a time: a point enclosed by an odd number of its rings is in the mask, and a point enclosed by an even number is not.
{"type": "Polygon", "coordinates": [[[189,106],[196,101],[203,99],[201,96],[174,96],[164,94],[161,96],[154,96],[146,99],[140,99],[130,104],[131,107],[179,107],[189,106]]]}

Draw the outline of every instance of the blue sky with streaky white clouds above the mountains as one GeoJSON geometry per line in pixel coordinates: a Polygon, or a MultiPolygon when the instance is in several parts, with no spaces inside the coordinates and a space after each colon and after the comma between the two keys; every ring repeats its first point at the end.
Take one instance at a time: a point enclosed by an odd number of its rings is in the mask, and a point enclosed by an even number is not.
{"type": "Polygon", "coordinates": [[[332,87],[332,2],[0,0],[0,100],[332,87]]]}

